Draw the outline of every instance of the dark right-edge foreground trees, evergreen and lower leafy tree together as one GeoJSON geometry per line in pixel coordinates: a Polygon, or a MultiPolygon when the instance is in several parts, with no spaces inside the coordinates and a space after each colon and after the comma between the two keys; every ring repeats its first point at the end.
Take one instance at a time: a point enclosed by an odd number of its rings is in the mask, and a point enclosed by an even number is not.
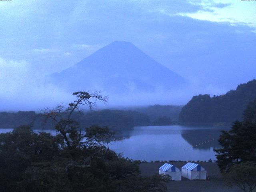
{"type": "Polygon", "coordinates": [[[256,99],[248,104],[244,119],[222,131],[218,141],[222,148],[215,149],[217,163],[226,182],[252,192],[256,188],[256,99]]]}

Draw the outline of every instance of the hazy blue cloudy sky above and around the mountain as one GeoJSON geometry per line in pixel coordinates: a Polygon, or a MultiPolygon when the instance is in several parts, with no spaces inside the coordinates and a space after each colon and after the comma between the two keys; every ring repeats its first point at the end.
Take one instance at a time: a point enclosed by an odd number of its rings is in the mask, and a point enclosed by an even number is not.
{"type": "Polygon", "coordinates": [[[45,98],[44,88],[32,90],[35,78],[115,40],[202,84],[203,93],[223,94],[256,78],[255,18],[256,1],[242,0],[0,1],[0,99],[45,98]]]}

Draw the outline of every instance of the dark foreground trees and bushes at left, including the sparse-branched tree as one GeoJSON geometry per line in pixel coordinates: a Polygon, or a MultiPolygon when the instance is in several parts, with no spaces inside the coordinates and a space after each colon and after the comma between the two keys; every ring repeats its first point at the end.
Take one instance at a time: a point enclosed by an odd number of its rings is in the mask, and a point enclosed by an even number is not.
{"type": "Polygon", "coordinates": [[[1,192],[164,192],[167,179],[140,176],[138,162],[108,148],[116,140],[106,127],[83,125],[72,119],[82,105],[106,101],[100,94],[76,92],[68,108],[56,106],[40,114],[51,120],[57,135],[35,133],[20,126],[0,134],[1,192]],[[65,114],[64,114],[65,111],[65,114]]]}

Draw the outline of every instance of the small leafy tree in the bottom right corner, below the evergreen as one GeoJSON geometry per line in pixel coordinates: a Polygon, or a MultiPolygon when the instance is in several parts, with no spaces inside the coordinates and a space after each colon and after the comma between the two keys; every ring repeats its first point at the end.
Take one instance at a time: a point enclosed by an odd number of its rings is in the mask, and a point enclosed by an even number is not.
{"type": "Polygon", "coordinates": [[[244,192],[252,192],[256,188],[256,163],[235,164],[225,176],[229,186],[234,185],[244,192]]]}

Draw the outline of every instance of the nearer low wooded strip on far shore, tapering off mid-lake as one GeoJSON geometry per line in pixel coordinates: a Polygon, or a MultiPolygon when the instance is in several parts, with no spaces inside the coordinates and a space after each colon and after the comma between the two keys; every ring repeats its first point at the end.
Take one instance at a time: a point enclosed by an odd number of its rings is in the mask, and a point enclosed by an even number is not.
{"type": "MultiPolygon", "coordinates": [[[[68,116],[64,111],[63,116],[68,116]]],[[[84,126],[94,124],[109,126],[112,130],[130,129],[134,126],[150,125],[151,121],[147,115],[131,110],[98,110],[86,112],[73,112],[72,119],[84,126]]],[[[0,112],[0,128],[15,128],[20,125],[31,124],[33,128],[54,129],[52,121],[48,121],[42,126],[42,116],[36,112],[0,112]]]]}

